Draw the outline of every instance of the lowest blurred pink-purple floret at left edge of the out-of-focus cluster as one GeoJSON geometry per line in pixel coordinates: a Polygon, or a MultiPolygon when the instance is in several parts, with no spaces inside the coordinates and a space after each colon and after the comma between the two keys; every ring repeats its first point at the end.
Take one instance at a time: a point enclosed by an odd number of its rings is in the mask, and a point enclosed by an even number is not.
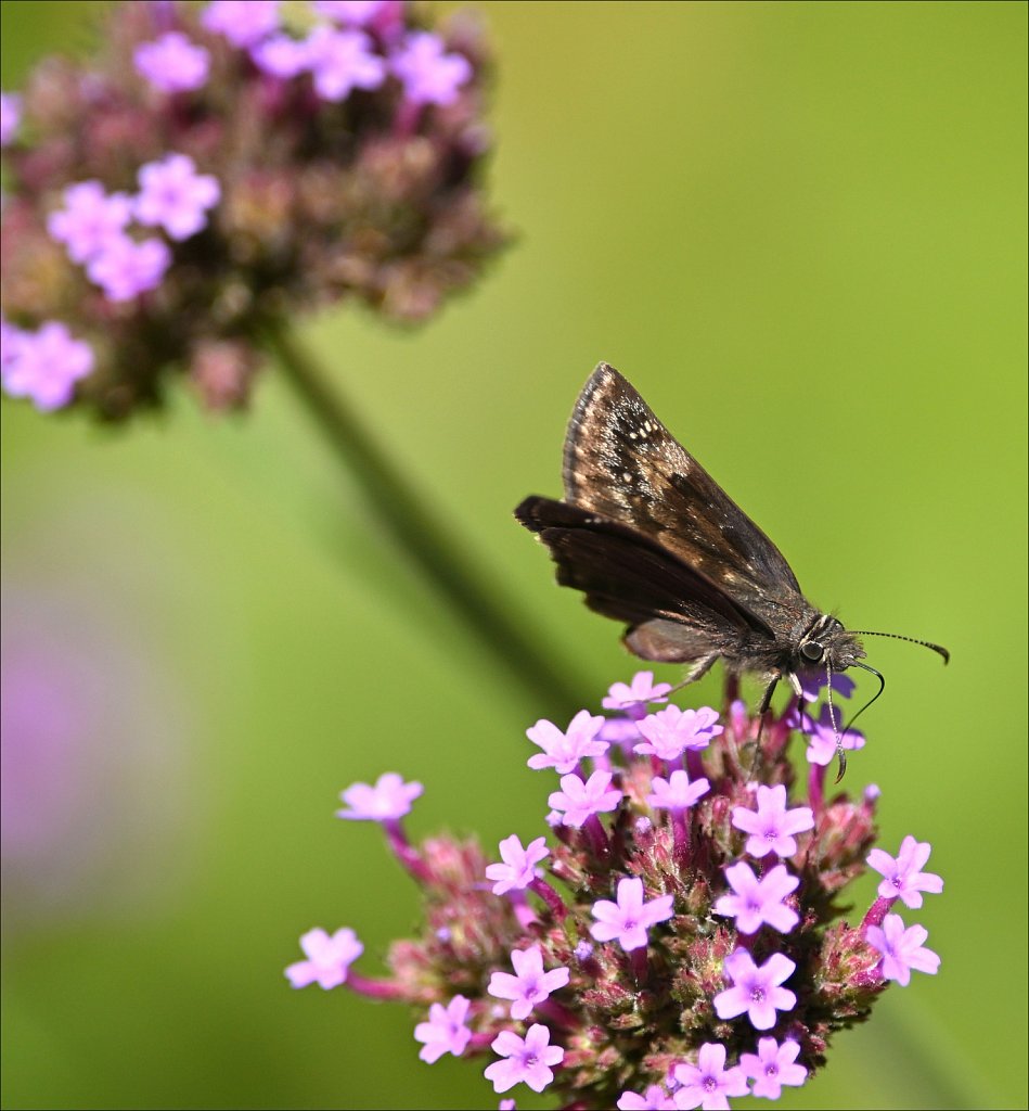
{"type": "Polygon", "coordinates": [[[58,321],[37,332],[6,324],[0,368],[12,398],[31,398],[37,409],[49,412],[71,401],[75,382],[93,369],[93,351],[58,321]]]}

